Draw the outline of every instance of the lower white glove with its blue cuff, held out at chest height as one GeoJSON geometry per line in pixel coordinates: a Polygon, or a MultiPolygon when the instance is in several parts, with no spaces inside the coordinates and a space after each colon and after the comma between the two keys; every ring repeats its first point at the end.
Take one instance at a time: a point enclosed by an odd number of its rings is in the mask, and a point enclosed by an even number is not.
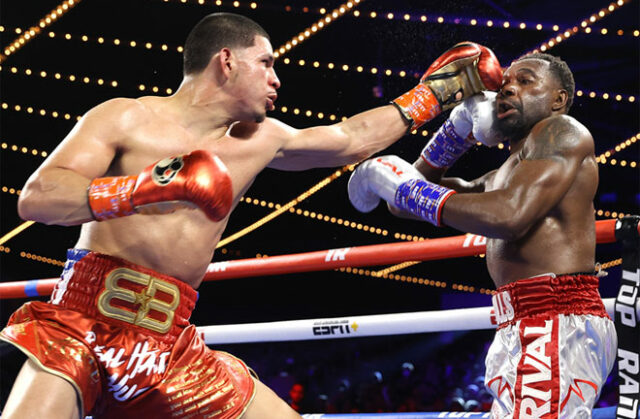
{"type": "Polygon", "coordinates": [[[427,181],[398,156],[365,161],[349,179],[349,200],[360,212],[373,211],[380,198],[392,206],[439,226],[444,203],[456,192],[427,181]]]}

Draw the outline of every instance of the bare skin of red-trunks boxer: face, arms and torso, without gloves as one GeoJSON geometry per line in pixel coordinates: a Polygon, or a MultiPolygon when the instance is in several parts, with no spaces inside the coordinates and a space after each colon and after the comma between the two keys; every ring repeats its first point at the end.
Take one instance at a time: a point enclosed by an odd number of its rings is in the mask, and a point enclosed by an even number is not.
{"type": "Polygon", "coordinates": [[[137,175],[164,158],[207,150],[228,168],[235,207],[267,166],[305,170],[354,163],[406,130],[391,105],[301,130],[265,118],[280,85],[269,41],[256,37],[254,46],[231,54],[230,63],[237,70],[226,74],[224,83],[214,83],[223,77],[211,64],[186,77],[173,96],[113,99],[90,110],[23,188],[21,216],[47,224],[84,224],[78,248],[126,259],[195,288],[229,216],[212,222],[201,210],[179,209],[92,221],[87,203],[92,179],[137,175]]]}

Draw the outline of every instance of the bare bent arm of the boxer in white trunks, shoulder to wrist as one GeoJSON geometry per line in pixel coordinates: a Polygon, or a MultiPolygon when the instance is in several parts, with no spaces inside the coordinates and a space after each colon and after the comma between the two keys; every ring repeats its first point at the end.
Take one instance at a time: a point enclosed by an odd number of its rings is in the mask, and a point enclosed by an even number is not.
{"type": "Polygon", "coordinates": [[[548,214],[573,184],[584,159],[593,156],[593,139],[567,116],[548,118],[531,136],[504,188],[452,196],[444,205],[443,223],[515,240],[548,214]]]}

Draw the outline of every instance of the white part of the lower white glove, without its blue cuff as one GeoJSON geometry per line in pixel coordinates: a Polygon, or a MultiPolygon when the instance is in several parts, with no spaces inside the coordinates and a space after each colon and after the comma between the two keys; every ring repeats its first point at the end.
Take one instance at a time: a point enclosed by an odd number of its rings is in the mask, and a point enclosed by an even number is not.
{"type": "Polygon", "coordinates": [[[424,179],[413,165],[398,156],[380,156],[360,164],[349,178],[349,201],[360,212],[371,212],[380,198],[393,204],[396,190],[411,179],[424,179]]]}

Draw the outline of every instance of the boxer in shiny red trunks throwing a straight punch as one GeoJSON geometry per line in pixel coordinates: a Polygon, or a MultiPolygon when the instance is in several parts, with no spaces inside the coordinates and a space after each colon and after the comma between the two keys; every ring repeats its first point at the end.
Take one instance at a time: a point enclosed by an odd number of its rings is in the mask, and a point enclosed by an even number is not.
{"type": "Polygon", "coordinates": [[[357,162],[405,134],[407,115],[417,127],[497,89],[502,70],[490,50],[458,45],[393,105],[297,130],[266,117],[273,63],[259,25],[209,15],[174,95],[98,105],[27,181],[22,218],[82,229],[51,301],[0,333],[29,357],[3,418],[299,417],[188,324],[230,211],[265,167],[357,162]]]}

